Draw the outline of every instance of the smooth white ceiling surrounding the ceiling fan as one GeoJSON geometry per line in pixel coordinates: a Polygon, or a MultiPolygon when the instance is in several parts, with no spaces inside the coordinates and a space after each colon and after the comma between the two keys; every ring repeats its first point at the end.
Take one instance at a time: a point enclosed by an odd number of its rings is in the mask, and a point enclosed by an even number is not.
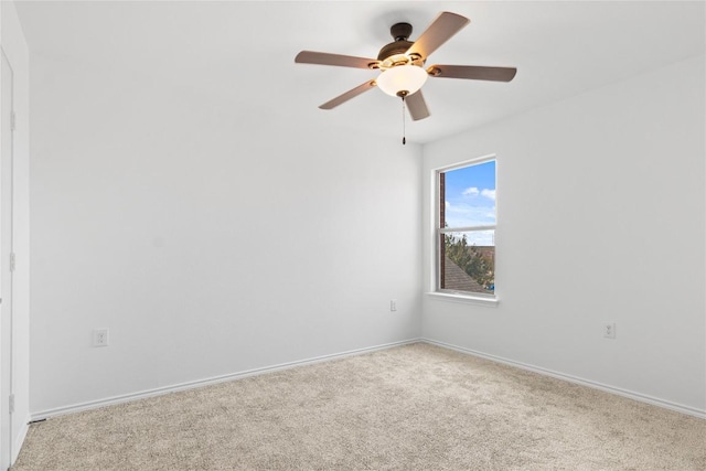
{"type": "Polygon", "coordinates": [[[400,103],[372,89],[318,106],[376,74],[295,64],[301,50],[375,57],[389,26],[415,40],[440,11],[471,20],[427,64],[515,66],[511,83],[430,78],[431,111],[409,122],[428,142],[705,54],[703,1],[20,1],[34,54],[188,86],[204,103],[399,137],[400,103]]]}

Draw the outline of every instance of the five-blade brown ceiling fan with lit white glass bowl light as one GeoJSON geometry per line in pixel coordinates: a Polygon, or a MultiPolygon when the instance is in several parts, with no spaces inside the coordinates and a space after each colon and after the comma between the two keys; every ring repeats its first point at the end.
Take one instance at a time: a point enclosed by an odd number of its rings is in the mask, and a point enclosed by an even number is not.
{"type": "Polygon", "coordinates": [[[335,65],[382,71],[377,78],[367,81],[324,103],[319,107],[321,109],[335,108],[371,88],[378,87],[391,96],[402,97],[409,109],[411,119],[416,121],[429,116],[429,109],[420,90],[427,77],[510,82],[517,73],[514,67],[485,67],[478,65],[435,64],[425,68],[429,54],[468,23],[470,23],[468,18],[445,11],[439,13],[429,28],[414,42],[408,41],[411,34],[411,24],[393,24],[389,33],[395,41],[383,46],[377,54],[377,58],[301,51],[295,57],[295,62],[299,64],[335,65]]]}

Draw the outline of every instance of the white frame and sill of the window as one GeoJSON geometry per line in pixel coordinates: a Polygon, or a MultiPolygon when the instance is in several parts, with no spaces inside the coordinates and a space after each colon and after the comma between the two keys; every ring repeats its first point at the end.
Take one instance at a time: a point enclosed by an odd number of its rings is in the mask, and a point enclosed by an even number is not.
{"type": "MultiPolygon", "coordinates": [[[[432,217],[432,228],[434,228],[434,264],[432,264],[432,276],[434,280],[432,291],[428,295],[443,299],[448,301],[454,302],[468,302],[474,304],[482,306],[491,306],[494,307],[499,302],[498,289],[495,288],[493,295],[485,295],[480,292],[470,292],[470,291],[458,291],[451,289],[441,289],[441,240],[445,234],[448,233],[459,233],[459,232],[480,232],[480,231],[494,231],[495,236],[498,235],[498,197],[495,199],[495,224],[491,225],[477,225],[477,226],[463,226],[463,227],[439,227],[440,217],[441,217],[441,195],[440,195],[440,175],[441,173],[446,173],[452,170],[462,169],[466,167],[478,165],[481,163],[495,161],[495,191],[498,191],[498,157],[495,154],[483,156],[470,160],[466,160],[463,162],[454,163],[452,165],[440,167],[434,169],[434,217],[432,217]]],[[[498,245],[495,245],[495,264],[493,270],[495,272],[495,277],[498,276],[498,245]]]]}

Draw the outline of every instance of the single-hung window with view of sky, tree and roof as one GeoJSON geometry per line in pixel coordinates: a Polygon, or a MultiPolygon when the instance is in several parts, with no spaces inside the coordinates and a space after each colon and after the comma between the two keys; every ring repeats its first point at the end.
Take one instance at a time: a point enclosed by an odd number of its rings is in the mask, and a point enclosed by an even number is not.
{"type": "Polygon", "coordinates": [[[437,171],[437,291],[495,298],[495,159],[437,171]]]}

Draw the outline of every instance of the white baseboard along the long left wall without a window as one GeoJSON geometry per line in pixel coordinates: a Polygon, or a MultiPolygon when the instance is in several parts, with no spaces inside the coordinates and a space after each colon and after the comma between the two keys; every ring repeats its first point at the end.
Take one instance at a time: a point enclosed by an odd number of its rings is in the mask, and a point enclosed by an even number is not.
{"type": "MultiPolygon", "coordinates": [[[[375,351],[378,351],[378,350],[392,349],[394,346],[407,345],[407,344],[417,343],[417,342],[420,342],[420,341],[421,341],[421,339],[410,339],[410,340],[405,340],[405,341],[400,341],[400,342],[386,343],[386,344],[383,344],[383,345],[368,346],[368,347],[365,347],[365,349],[350,350],[350,351],[346,351],[346,352],[333,353],[333,354],[330,354],[330,355],[317,356],[317,357],[313,357],[313,358],[300,360],[300,361],[289,362],[289,363],[281,363],[281,364],[278,364],[278,365],[265,366],[265,367],[261,367],[261,368],[247,370],[247,371],[244,371],[244,372],[232,373],[232,374],[222,375],[222,376],[214,376],[214,377],[210,377],[210,378],[205,378],[205,379],[197,379],[197,381],[181,383],[181,384],[176,384],[176,385],[172,385],[172,386],[158,387],[158,388],[154,388],[154,389],[142,390],[142,392],[139,392],[139,393],[125,394],[125,395],[120,395],[120,396],[108,397],[108,398],[105,398],[105,399],[90,400],[90,402],[87,402],[87,403],[74,404],[74,405],[65,406],[65,407],[56,407],[56,408],[53,408],[53,409],[40,410],[40,411],[31,414],[31,417],[32,417],[31,420],[42,420],[42,419],[47,419],[47,418],[51,418],[51,417],[63,416],[63,415],[66,415],[66,414],[79,413],[82,410],[97,409],[99,407],[106,407],[106,406],[113,406],[113,405],[116,405],[116,404],[130,403],[130,402],[133,402],[133,400],[145,399],[145,398],[148,398],[148,397],[161,396],[161,395],[170,394],[170,393],[178,393],[180,390],[193,389],[193,388],[196,388],[196,387],[203,387],[203,386],[208,386],[208,385],[213,385],[213,384],[225,383],[225,382],[235,381],[235,379],[242,379],[242,378],[246,378],[246,377],[250,377],[250,376],[257,376],[257,375],[261,375],[261,374],[266,374],[266,373],[274,373],[274,372],[278,372],[278,371],[282,371],[282,370],[293,368],[293,367],[297,367],[297,366],[312,365],[312,364],[315,364],[315,363],[327,362],[327,361],[336,360],[336,358],[343,358],[343,357],[346,357],[346,356],[361,355],[361,354],[364,354],[364,353],[375,352],[375,351]]],[[[26,433],[26,431],[25,431],[25,433],[26,433]]]]}

